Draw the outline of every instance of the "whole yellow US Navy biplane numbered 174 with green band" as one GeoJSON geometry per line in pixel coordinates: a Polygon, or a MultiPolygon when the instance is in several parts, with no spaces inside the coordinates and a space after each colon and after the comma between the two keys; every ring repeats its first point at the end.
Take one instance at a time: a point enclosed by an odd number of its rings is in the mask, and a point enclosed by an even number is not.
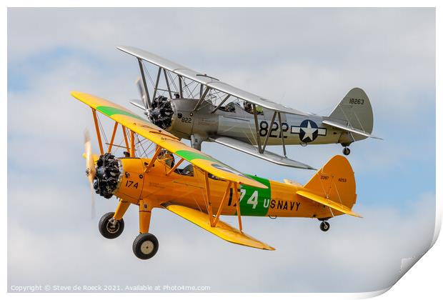
{"type": "Polygon", "coordinates": [[[106,199],[119,199],[116,211],[101,217],[99,231],[115,239],[124,229],[129,205],[139,206],[140,232],[132,246],[139,259],[150,259],[159,248],[149,233],[154,208],[172,211],[226,241],[266,250],[274,248],[244,234],[242,216],[316,218],[322,231],[329,229],[327,220],[333,216],[359,216],[351,210],[357,199],[354,171],[344,156],[334,156],[304,186],[286,179],[271,181],[232,169],[122,106],[90,94],[71,94],[91,106],[94,117],[100,155],[92,153],[88,136],[84,154],[91,186],[106,199]],[[115,121],[106,152],[97,111],[115,121]],[[114,144],[119,124],[123,157],[112,154],[119,147],[114,144]],[[140,149],[146,139],[155,146],[151,158],[141,157],[146,156],[140,149]],[[137,157],[137,151],[143,155],[137,157]],[[183,167],[184,161],[189,165],[183,167]],[[237,215],[239,228],[221,221],[221,215],[237,215]]]}

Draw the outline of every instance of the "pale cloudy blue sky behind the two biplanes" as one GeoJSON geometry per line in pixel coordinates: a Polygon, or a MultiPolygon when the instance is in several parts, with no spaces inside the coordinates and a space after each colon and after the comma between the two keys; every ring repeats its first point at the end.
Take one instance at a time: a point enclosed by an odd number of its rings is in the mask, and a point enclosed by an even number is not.
{"type": "MultiPolygon", "coordinates": [[[[133,109],[136,110],[135,108],[133,109]]],[[[429,249],[435,216],[434,9],[8,9],[8,287],[33,284],[211,286],[211,291],[376,291],[395,283],[403,258],[429,249]],[[278,103],[329,114],[349,89],[367,92],[373,133],[352,144],[354,211],[325,234],[317,219],[245,217],[260,251],[154,210],[154,259],[131,250],[138,214],[104,239],[84,176],[85,91],[133,109],[136,46],[278,103]],[[32,247],[31,251],[29,247],[32,247]],[[207,276],[211,270],[212,276],[207,276]],[[119,276],[116,276],[119,274],[119,276]]],[[[203,151],[239,171],[305,183],[313,171],[233,149],[203,151]]],[[[272,149],[272,148],[270,148],[272,149]]],[[[281,151],[274,148],[273,151],[281,151]]],[[[322,166],[340,145],[290,146],[322,166]]],[[[229,222],[235,221],[225,217],[229,222]]]]}

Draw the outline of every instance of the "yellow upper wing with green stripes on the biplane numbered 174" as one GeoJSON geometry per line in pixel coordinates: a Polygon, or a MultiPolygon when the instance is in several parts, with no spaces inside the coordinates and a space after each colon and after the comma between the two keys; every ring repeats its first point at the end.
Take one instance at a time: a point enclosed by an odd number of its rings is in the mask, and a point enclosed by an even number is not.
{"type": "Polygon", "coordinates": [[[254,179],[250,179],[232,167],[223,164],[221,161],[218,161],[213,157],[202,153],[201,151],[181,143],[179,138],[174,136],[174,134],[170,134],[169,132],[161,129],[159,126],[149,123],[145,119],[141,118],[141,116],[137,116],[123,106],[119,106],[111,101],[82,93],[80,91],[72,91],[71,95],[84,102],[84,104],[91,106],[91,108],[96,109],[96,111],[100,111],[102,114],[109,116],[109,118],[113,119],[114,121],[126,126],[126,128],[130,129],[131,131],[144,136],[146,139],[149,139],[150,141],[154,142],[154,144],[159,145],[161,148],[173,152],[183,159],[186,159],[186,161],[189,161],[194,166],[208,171],[214,176],[227,181],[236,182],[237,184],[246,184],[247,186],[267,189],[267,186],[264,184],[261,184],[254,179]]]}

